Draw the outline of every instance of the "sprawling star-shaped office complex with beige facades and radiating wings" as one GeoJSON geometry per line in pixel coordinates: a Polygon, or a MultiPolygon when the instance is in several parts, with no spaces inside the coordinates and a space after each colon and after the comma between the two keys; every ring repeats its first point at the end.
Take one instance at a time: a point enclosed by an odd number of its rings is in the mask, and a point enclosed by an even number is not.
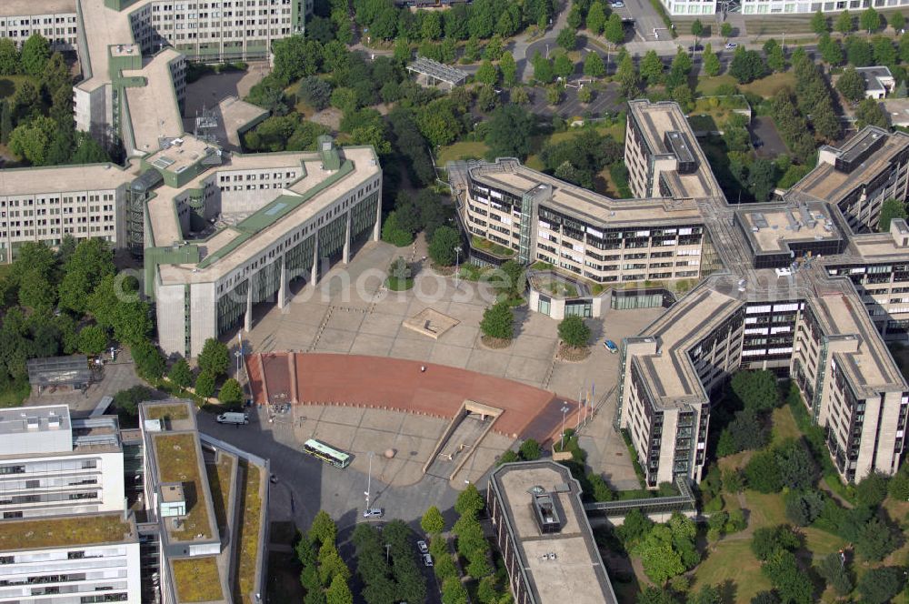
{"type": "Polygon", "coordinates": [[[700,479],[712,400],[740,368],[793,377],[843,478],[893,474],[909,387],[883,337],[906,338],[909,227],[873,231],[884,200],[909,194],[909,136],[865,128],[823,147],[782,200],[743,208],[726,203],[674,103],[632,101],[625,134],[636,199],[514,160],[449,172],[462,225],[489,242],[472,242],[474,262],[544,260],[585,286],[702,279],[621,350],[616,425],[648,485],[700,479]],[[604,253],[614,265],[597,266],[604,253]]]}

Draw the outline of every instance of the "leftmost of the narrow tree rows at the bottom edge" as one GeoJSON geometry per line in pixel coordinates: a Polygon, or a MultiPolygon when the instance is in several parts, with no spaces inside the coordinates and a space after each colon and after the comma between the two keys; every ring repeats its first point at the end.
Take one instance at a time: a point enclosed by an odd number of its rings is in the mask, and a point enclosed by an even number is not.
{"type": "Polygon", "coordinates": [[[305,604],[353,604],[350,569],[337,549],[337,526],[324,511],[315,515],[312,526],[301,532],[296,557],[303,565],[300,583],[305,604]]]}

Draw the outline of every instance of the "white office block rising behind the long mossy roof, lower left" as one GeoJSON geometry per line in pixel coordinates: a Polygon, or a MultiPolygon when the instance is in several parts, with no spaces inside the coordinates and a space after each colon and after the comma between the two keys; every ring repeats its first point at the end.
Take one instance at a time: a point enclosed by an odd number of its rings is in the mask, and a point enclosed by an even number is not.
{"type": "Polygon", "coordinates": [[[2,518],[123,509],[115,416],[74,419],[65,405],[0,409],[2,518]]]}

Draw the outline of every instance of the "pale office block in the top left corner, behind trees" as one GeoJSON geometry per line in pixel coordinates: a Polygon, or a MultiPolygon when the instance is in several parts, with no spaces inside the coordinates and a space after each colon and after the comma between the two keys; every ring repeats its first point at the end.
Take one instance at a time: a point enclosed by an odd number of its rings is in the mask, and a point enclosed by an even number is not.
{"type": "Polygon", "coordinates": [[[5,0],[0,2],[0,37],[22,45],[43,35],[53,50],[75,50],[78,37],[76,0],[5,0]]]}

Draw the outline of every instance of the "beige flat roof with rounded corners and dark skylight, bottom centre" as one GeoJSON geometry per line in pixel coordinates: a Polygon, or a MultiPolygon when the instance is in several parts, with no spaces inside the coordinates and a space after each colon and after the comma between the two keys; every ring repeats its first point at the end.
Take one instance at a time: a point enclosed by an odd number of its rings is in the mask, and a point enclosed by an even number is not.
{"type": "MultiPolygon", "coordinates": [[[[568,468],[550,460],[504,464],[490,485],[500,497],[509,534],[535,604],[613,603],[615,594],[581,504],[581,489],[568,468]],[[561,530],[543,534],[531,505],[531,489],[554,500],[561,530]],[[554,554],[554,557],[552,556],[554,554]]],[[[520,580],[520,579],[517,579],[520,580]]]]}

